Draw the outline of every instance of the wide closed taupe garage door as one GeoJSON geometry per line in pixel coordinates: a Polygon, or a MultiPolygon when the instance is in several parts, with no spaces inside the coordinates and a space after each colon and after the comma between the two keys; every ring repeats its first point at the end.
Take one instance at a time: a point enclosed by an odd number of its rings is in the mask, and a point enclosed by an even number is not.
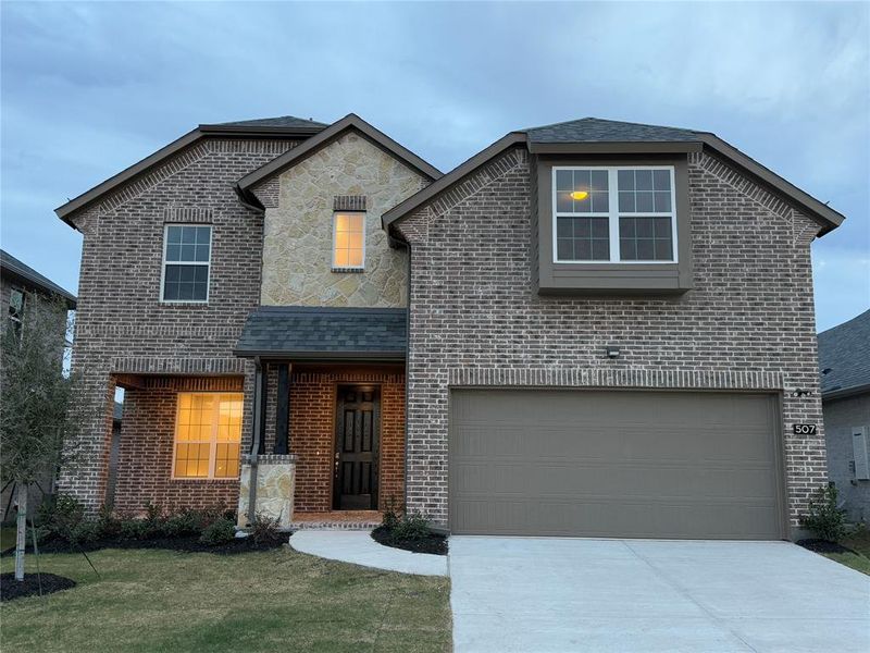
{"type": "Polygon", "coordinates": [[[457,390],[461,534],[784,538],[773,395],[457,390]]]}

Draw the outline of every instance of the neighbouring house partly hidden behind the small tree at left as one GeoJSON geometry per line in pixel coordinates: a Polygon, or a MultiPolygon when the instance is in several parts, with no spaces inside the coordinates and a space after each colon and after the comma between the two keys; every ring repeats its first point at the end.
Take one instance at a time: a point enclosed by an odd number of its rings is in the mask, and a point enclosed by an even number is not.
{"type": "MultiPolygon", "coordinates": [[[[14,256],[0,249],[0,303],[5,311],[0,321],[0,333],[5,334],[7,330],[13,330],[18,336],[23,330],[24,310],[29,301],[39,297],[54,298],[60,297],[66,303],[70,310],[76,306],[75,295],[66,292],[50,279],[42,276],[39,272],[26,266],[14,256]]],[[[58,324],[59,353],[63,349],[66,342],[66,321],[58,324]]],[[[58,373],[61,373],[61,360],[58,360],[58,373]]],[[[9,410],[11,406],[3,406],[9,410]]],[[[36,506],[42,501],[44,493],[50,493],[53,488],[53,478],[41,479],[30,489],[30,506],[36,506]]],[[[12,504],[15,494],[13,484],[9,483],[0,492],[0,506],[3,510],[3,520],[11,515],[12,504]]]]}

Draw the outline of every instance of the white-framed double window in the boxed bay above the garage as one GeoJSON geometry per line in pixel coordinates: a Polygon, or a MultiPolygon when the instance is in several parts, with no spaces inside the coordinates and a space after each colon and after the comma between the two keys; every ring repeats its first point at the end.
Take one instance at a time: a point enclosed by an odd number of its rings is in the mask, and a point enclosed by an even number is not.
{"type": "Polygon", "coordinates": [[[674,263],[674,169],[554,168],[555,262],[674,263]]]}

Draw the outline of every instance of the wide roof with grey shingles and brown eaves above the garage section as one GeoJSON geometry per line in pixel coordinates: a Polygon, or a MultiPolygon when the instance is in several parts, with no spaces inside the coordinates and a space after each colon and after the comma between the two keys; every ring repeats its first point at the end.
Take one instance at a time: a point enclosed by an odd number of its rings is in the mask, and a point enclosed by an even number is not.
{"type": "Polygon", "coordinates": [[[509,147],[521,143],[525,144],[531,153],[539,155],[675,153],[701,151],[707,148],[799,206],[820,224],[819,235],[836,229],[845,219],[842,213],[805,193],[710,132],[583,118],[511,132],[434,184],[384,213],[382,217],[384,229],[388,229],[390,224],[417,210],[442,190],[452,186],[509,147]]]}

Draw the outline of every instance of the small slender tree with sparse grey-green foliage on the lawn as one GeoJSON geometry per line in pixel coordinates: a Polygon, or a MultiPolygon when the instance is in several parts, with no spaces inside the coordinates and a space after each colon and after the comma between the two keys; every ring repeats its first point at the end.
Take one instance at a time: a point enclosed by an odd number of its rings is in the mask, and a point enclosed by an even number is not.
{"type": "Polygon", "coordinates": [[[74,455],[77,375],[63,372],[66,304],[32,294],[20,317],[20,328],[4,329],[0,343],[0,467],[2,482],[14,482],[17,491],[15,579],[24,580],[28,491],[74,455]]]}

